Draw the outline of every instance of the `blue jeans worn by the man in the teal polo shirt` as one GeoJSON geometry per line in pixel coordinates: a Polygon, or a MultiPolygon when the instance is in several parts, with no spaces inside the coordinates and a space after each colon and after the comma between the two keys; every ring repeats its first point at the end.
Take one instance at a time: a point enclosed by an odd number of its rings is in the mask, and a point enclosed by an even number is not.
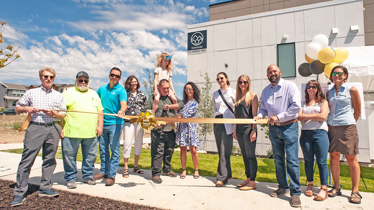
{"type": "Polygon", "coordinates": [[[102,128],[102,135],[99,137],[99,151],[100,151],[100,173],[108,175],[108,177],[116,177],[119,166],[120,149],[119,139],[121,138],[122,125],[104,125],[102,128]],[[110,156],[110,151],[112,155],[110,156]]]}

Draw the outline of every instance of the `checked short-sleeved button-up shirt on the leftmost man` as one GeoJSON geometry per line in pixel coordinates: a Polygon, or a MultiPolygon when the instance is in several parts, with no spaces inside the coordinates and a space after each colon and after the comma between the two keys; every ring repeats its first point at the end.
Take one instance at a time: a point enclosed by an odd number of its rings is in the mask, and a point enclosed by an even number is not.
{"type": "MultiPolygon", "coordinates": [[[[46,91],[43,86],[27,90],[25,95],[23,95],[22,98],[17,101],[16,107],[18,106],[32,106],[37,109],[66,110],[65,101],[62,94],[53,89],[46,91]]],[[[62,113],[66,115],[66,112],[62,113]]],[[[31,121],[35,121],[37,123],[48,123],[56,120],[60,121],[60,119],[45,115],[42,111],[31,115],[31,121]]]]}

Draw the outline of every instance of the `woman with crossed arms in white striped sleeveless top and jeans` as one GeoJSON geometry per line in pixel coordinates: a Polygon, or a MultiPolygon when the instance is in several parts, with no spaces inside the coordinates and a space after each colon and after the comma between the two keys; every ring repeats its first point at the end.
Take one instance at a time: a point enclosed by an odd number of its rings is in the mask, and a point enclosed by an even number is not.
{"type": "MultiPolygon", "coordinates": [[[[301,121],[300,146],[304,155],[304,169],[308,188],[304,195],[313,197],[313,164],[314,156],[319,169],[321,190],[313,200],[323,201],[328,198],[327,194],[327,153],[329,140],[327,136],[328,103],[321,90],[318,81],[308,81],[305,88],[305,100],[301,103],[302,114],[297,118],[301,121]]],[[[301,112],[301,111],[300,111],[301,112]]]]}

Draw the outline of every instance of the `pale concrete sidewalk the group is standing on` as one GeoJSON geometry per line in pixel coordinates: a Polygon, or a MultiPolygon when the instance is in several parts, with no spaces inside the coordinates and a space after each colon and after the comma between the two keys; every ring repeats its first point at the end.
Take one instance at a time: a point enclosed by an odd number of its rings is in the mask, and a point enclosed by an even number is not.
{"type": "MultiPolygon", "coordinates": [[[[0,150],[10,147],[19,148],[22,144],[0,144],[0,150]]],[[[21,146],[22,147],[22,146],[21,146]]],[[[0,152],[0,179],[16,180],[18,163],[21,160],[20,154],[0,152]]],[[[343,195],[335,198],[328,198],[325,201],[313,201],[313,197],[306,197],[301,194],[301,208],[290,206],[290,196],[283,195],[279,198],[270,197],[270,192],[278,188],[276,183],[260,182],[256,183],[257,189],[249,191],[239,191],[236,185],[242,180],[232,179],[221,188],[215,187],[215,177],[202,177],[194,179],[192,175],[187,175],[186,179],[177,177],[162,176],[163,182],[155,184],[151,180],[151,171],[144,170],[144,174],[133,173],[130,169],[130,177],[122,177],[123,167],[119,167],[116,176],[116,183],[113,186],[105,186],[105,179],[98,180],[96,185],[83,183],[82,173],[78,172],[77,188],[67,189],[64,180],[64,167],[62,160],[57,159],[57,167],[52,176],[53,188],[77,192],[92,196],[111,198],[130,203],[147,206],[154,206],[165,209],[372,209],[374,194],[360,192],[363,199],[361,204],[351,204],[349,190],[342,190],[343,195]]],[[[41,177],[42,158],[37,157],[30,173],[29,182],[39,185],[41,177]]],[[[77,163],[78,169],[81,162],[77,163]]],[[[180,166],[177,166],[180,167],[180,166]]],[[[261,167],[261,166],[260,166],[261,167]]],[[[95,164],[95,174],[99,173],[99,164],[95,164]]],[[[200,169],[203,171],[204,169],[200,169]]],[[[301,186],[304,193],[306,186],[301,186]]],[[[318,189],[315,188],[315,192],[318,189]]],[[[12,196],[12,195],[9,195],[12,196]]],[[[10,205],[10,204],[9,204],[10,205]]]]}

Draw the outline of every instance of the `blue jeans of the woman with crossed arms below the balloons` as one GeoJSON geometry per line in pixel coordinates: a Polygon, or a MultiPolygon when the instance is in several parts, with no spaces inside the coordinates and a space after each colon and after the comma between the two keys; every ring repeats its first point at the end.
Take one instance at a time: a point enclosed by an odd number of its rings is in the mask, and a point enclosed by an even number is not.
{"type": "Polygon", "coordinates": [[[319,178],[321,180],[321,185],[327,185],[327,153],[329,146],[327,131],[322,129],[301,130],[300,146],[304,155],[304,169],[306,180],[308,182],[313,182],[313,164],[314,156],[316,155],[316,163],[319,169],[319,178]]]}

